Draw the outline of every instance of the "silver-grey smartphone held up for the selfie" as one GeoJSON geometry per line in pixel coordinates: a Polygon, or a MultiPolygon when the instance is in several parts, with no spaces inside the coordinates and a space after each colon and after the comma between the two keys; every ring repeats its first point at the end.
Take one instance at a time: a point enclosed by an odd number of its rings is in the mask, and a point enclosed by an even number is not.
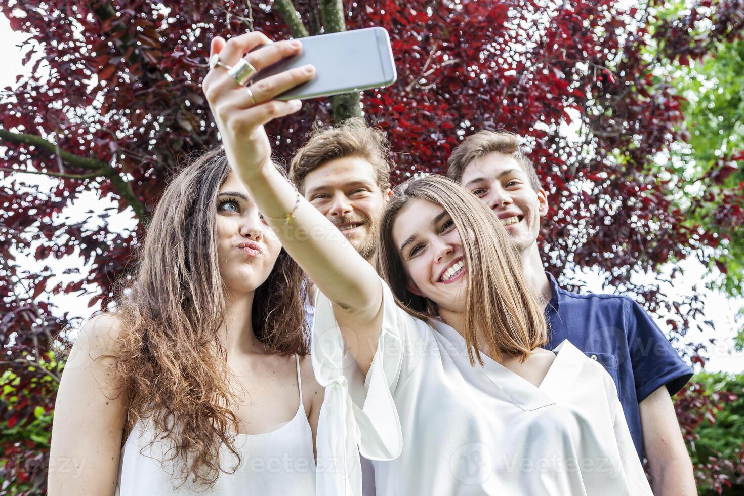
{"type": "Polygon", "coordinates": [[[315,66],[312,80],[285,91],[276,100],[328,97],[382,88],[397,79],[390,36],[385,28],[356,29],[298,40],[302,42],[299,54],[269,65],[251,80],[253,83],[306,64],[315,66]]]}

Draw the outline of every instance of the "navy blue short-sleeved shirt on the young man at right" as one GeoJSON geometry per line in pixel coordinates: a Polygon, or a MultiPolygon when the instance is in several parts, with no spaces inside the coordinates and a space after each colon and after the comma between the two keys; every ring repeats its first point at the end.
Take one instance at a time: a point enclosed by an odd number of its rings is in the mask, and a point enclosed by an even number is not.
{"type": "Polygon", "coordinates": [[[671,395],[693,375],[669,340],[638,303],[615,294],[565,291],[550,273],[553,296],[545,307],[548,348],[568,339],[602,364],[618,387],[618,396],[635,449],[644,457],[638,404],[661,386],[671,395]]]}

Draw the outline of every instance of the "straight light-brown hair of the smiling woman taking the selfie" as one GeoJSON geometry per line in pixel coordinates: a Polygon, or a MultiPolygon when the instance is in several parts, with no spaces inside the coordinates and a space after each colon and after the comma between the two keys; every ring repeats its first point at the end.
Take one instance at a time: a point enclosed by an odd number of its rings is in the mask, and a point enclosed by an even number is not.
{"type": "Polygon", "coordinates": [[[423,199],[446,210],[460,233],[467,264],[464,338],[470,364],[483,365],[480,352],[525,361],[548,341],[542,309],[522,277],[509,234],[484,202],[443,175],[426,175],[399,184],[382,211],[378,234],[377,268],[397,303],[424,321],[439,317],[437,304],[408,290],[408,271],[393,241],[393,227],[411,199],[423,199]]]}

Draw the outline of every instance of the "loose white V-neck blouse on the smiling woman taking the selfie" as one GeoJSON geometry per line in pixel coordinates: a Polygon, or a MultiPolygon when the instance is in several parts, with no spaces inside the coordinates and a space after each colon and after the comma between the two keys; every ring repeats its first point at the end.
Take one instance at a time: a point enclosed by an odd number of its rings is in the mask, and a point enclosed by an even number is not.
{"type": "Polygon", "coordinates": [[[483,354],[473,367],[455,329],[411,317],[380,283],[382,332],[365,381],[318,292],[318,495],[362,494],[359,453],[373,460],[378,496],[652,495],[600,364],[563,341],[539,387],[483,354]]]}

